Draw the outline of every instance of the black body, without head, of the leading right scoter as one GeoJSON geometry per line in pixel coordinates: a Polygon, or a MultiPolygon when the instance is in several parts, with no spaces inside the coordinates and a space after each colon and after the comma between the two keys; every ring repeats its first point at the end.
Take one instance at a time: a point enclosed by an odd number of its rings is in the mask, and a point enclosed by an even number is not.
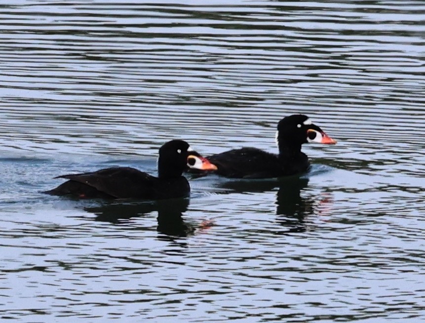
{"type": "Polygon", "coordinates": [[[302,173],[309,168],[306,154],[276,155],[258,148],[232,149],[207,159],[217,166],[216,174],[230,178],[272,178],[302,173]]]}

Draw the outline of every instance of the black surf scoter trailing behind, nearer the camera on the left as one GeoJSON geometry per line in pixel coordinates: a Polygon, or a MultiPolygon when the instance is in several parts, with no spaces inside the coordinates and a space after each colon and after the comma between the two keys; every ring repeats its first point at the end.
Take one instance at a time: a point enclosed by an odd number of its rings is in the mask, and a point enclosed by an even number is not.
{"type": "Polygon", "coordinates": [[[203,170],[217,169],[192,151],[186,141],[171,140],[159,148],[158,177],[132,167],[111,167],[95,172],[57,176],[55,178],[66,178],[68,181],[45,193],[78,198],[184,197],[190,193],[190,186],[182,173],[189,166],[203,170]]]}

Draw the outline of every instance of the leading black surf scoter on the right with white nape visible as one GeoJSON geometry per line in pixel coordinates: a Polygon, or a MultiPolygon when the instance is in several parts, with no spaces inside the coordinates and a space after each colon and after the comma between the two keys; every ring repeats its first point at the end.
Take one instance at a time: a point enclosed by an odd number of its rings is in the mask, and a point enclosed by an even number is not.
{"type": "Polygon", "coordinates": [[[302,114],[283,118],[277,125],[279,154],[257,148],[233,149],[207,159],[217,166],[215,173],[231,178],[272,178],[302,173],[309,168],[309,158],[301,152],[307,142],[336,144],[322,129],[302,114]]]}

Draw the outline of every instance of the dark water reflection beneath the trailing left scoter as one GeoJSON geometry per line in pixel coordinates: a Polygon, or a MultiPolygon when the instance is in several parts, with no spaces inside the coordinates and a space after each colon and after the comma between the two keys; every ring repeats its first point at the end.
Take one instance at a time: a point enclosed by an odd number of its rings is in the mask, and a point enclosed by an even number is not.
{"type": "Polygon", "coordinates": [[[85,211],[94,213],[96,221],[120,223],[124,219],[141,217],[157,212],[158,232],[171,236],[187,236],[193,233],[196,226],[188,225],[183,220],[183,213],[188,210],[189,199],[176,198],[151,202],[115,201],[95,207],[86,207],[85,211]]]}

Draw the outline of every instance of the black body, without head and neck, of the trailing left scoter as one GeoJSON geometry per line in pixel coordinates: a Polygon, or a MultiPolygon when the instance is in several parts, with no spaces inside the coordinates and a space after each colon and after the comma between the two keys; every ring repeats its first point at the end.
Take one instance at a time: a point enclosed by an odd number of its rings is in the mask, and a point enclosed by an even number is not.
{"type": "Polygon", "coordinates": [[[132,167],[111,167],[56,178],[68,181],[46,193],[78,198],[164,199],[186,197],[191,191],[184,176],[159,178],[132,167]]]}

